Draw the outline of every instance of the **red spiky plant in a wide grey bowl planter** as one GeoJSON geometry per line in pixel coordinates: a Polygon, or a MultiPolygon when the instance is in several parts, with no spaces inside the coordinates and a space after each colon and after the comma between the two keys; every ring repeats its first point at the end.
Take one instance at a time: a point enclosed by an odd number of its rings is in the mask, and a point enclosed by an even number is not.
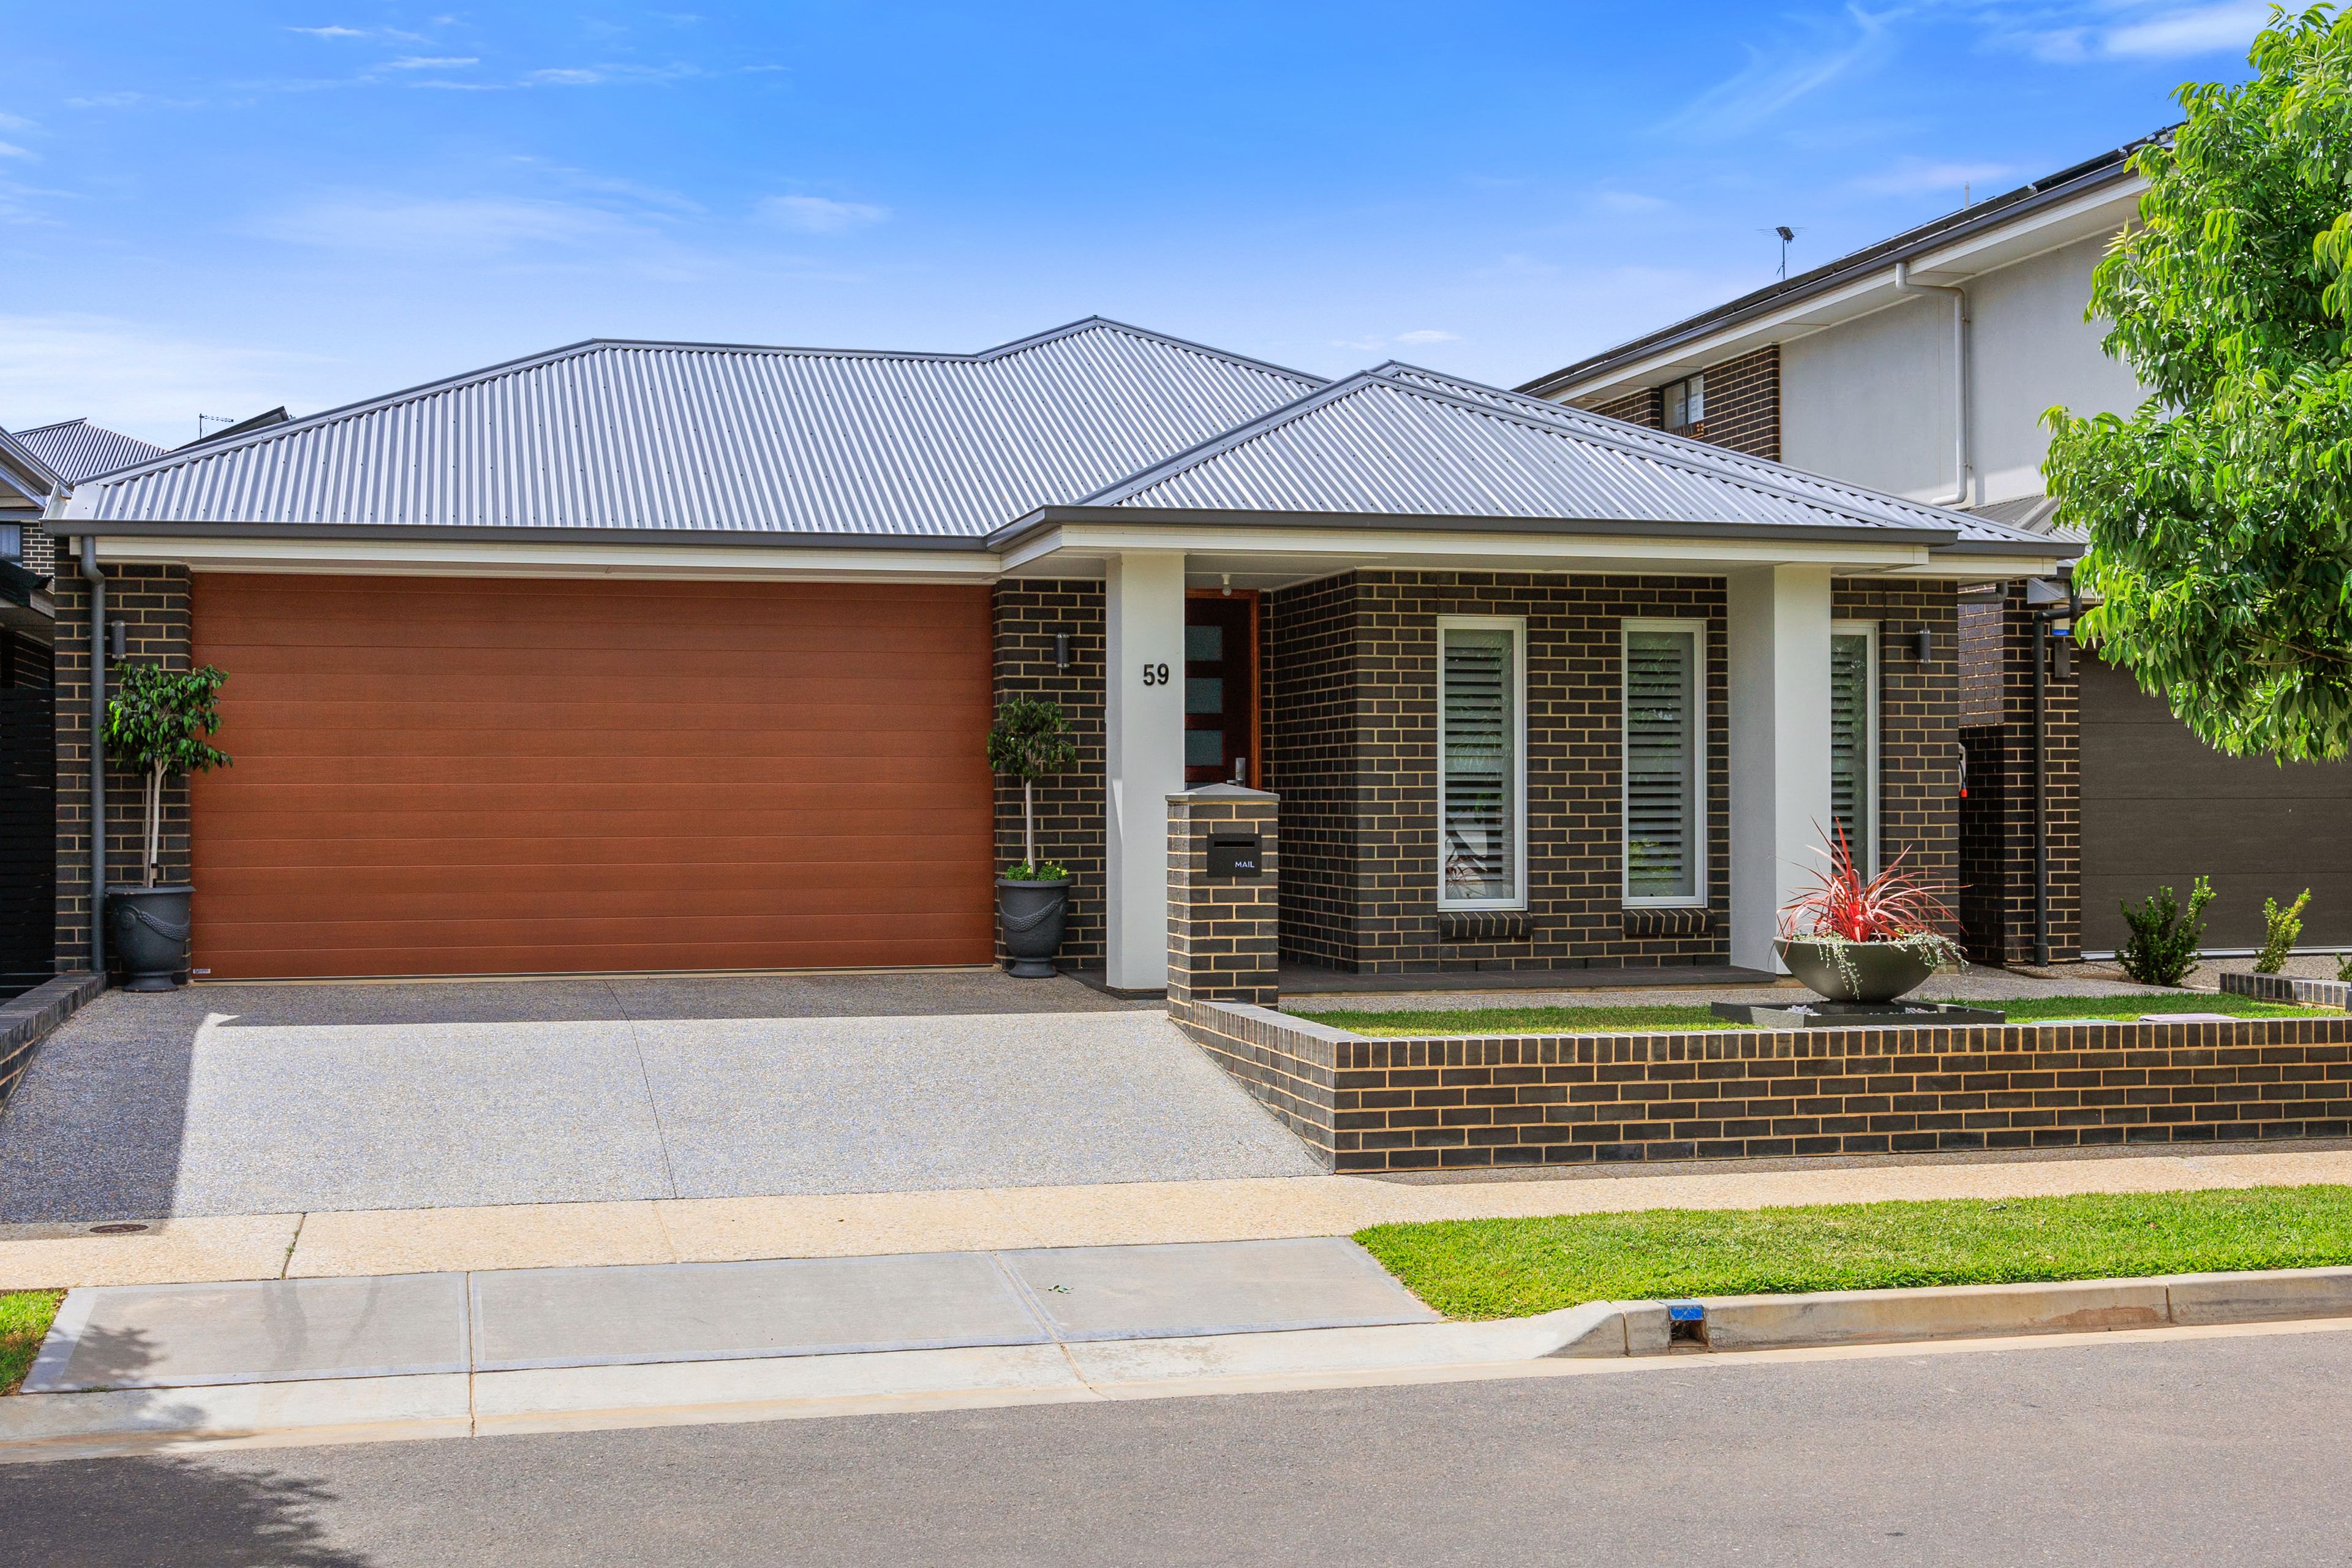
{"type": "Polygon", "coordinates": [[[1917,990],[1938,964],[1962,961],[1959,945],[1938,931],[1952,912],[1903,870],[1903,856],[1863,877],[1844,830],[1823,853],[1830,867],[1780,912],[1773,952],[1792,976],[1830,1001],[1884,1004],[1917,990]]]}

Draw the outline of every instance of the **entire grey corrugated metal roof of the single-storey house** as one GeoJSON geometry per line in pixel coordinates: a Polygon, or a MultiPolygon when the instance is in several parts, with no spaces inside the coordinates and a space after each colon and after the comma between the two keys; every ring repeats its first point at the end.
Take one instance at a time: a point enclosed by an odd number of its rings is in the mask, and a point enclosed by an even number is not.
{"type": "Polygon", "coordinates": [[[1101,317],[978,355],[576,343],[101,475],[66,531],[978,545],[1058,508],[2046,543],[1437,371],[1322,381],[1101,317]]]}

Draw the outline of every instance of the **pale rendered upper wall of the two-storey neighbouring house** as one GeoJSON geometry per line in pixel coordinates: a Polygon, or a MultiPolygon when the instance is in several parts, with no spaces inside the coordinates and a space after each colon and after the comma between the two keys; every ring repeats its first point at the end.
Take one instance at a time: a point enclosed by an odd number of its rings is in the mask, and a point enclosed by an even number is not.
{"type": "MultiPolygon", "coordinates": [[[[1969,280],[1971,501],[2042,494],[2042,411],[2140,404],[2084,322],[2105,240],[1969,280]]],[[[1780,461],[1919,501],[1952,494],[1952,306],[1907,301],[1780,346],[1780,461]]]]}

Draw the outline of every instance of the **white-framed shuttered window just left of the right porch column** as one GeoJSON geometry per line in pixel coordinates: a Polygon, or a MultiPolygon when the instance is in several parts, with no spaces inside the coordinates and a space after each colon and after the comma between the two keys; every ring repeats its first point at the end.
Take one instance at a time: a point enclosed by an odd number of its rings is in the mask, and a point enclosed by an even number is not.
{"type": "Polygon", "coordinates": [[[1705,903],[1705,625],[1625,623],[1625,903],[1705,903]]]}

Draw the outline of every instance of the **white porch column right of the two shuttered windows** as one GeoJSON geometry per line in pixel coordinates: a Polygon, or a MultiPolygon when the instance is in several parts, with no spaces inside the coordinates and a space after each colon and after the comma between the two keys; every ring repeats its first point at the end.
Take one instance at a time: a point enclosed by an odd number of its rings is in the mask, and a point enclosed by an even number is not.
{"type": "Polygon", "coordinates": [[[1780,971],[1780,907],[1825,860],[1830,827],[1830,569],[1729,574],[1731,961],[1780,971]]]}

